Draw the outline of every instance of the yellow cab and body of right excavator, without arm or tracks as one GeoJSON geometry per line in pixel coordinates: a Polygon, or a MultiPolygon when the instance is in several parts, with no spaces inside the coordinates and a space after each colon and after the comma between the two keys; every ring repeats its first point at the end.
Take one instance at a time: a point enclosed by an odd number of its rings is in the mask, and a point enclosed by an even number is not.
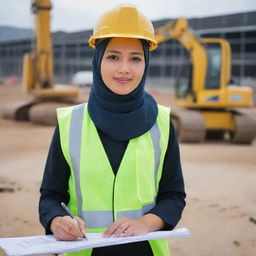
{"type": "Polygon", "coordinates": [[[190,63],[181,68],[176,83],[176,104],[187,108],[223,109],[251,107],[252,90],[231,85],[231,50],[219,38],[202,39],[197,53],[190,53],[190,63]]]}

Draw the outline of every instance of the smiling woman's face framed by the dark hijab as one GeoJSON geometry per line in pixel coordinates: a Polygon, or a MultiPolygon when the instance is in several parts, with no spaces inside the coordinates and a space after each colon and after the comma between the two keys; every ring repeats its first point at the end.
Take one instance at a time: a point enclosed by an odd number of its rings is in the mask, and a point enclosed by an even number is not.
{"type": "Polygon", "coordinates": [[[101,75],[114,93],[125,95],[140,83],[145,69],[142,44],[134,38],[112,38],[101,61],[101,75]]]}

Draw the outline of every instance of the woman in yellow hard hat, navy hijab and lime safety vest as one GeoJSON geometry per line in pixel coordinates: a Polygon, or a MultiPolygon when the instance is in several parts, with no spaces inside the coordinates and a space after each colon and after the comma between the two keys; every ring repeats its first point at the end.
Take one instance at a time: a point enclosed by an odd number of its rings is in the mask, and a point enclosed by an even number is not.
{"type": "MultiPolygon", "coordinates": [[[[88,105],[57,110],[39,204],[46,233],[75,240],[173,229],[185,206],[179,148],[167,108],[144,85],[151,22],[123,5],[99,20],[88,105]],[[76,224],[61,208],[68,204],[76,224]]],[[[70,255],[169,255],[167,240],[94,248],[70,255]]]]}

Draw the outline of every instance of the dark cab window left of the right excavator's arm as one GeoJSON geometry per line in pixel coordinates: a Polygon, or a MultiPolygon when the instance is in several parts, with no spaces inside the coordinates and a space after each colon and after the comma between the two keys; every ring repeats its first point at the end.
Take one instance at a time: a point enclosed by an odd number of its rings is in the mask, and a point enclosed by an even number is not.
{"type": "Polygon", "coordinates": [[[185,98],[192,92],[192,64],[186,63],[181,66],[178,73],[178,79],[175,85],[176,97],[185,98]]]}

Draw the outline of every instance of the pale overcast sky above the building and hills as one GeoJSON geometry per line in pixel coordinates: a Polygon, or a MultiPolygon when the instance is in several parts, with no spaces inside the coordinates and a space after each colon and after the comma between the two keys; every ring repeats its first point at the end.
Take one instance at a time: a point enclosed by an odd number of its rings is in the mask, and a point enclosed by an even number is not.
{"type": "MultiPolygon", "coordinates": [[[[149,19],[196,18],[256,11],[256,0],[52,0],[52,31],[92,29],[107,10],[133,4],[149,19]]],[[[0,0],[0,26],[33,28],[31,0],[0,0]]]]}

